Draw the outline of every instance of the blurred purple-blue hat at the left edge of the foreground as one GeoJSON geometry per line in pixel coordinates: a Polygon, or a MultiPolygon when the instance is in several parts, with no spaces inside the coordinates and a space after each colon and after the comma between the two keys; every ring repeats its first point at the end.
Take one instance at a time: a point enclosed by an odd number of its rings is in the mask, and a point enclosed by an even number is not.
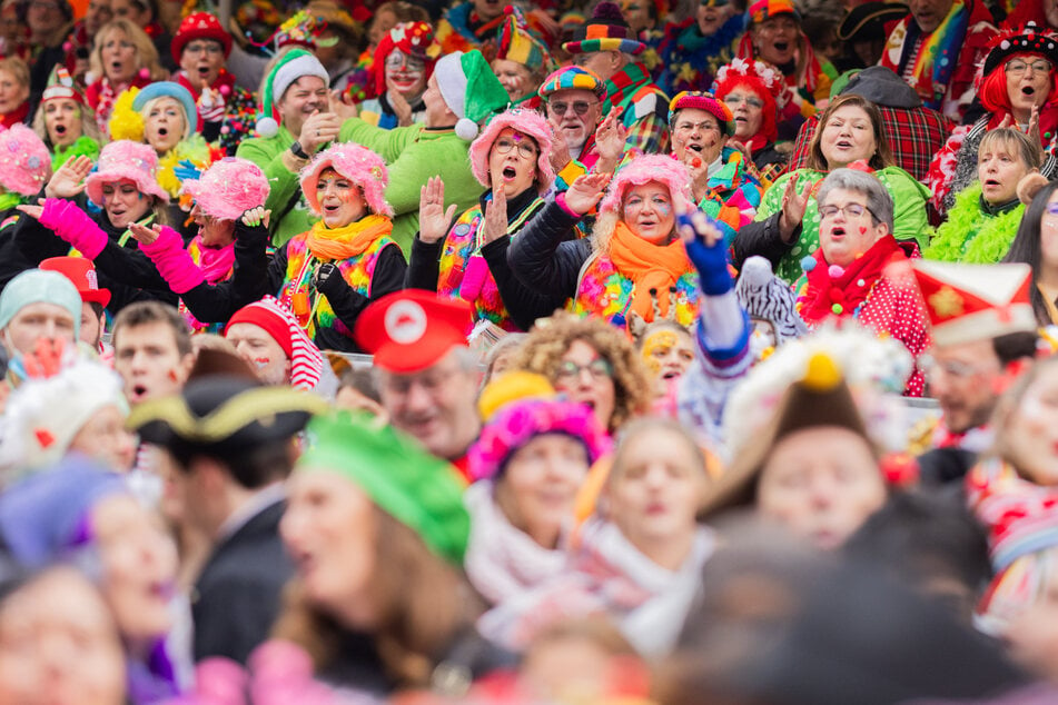
{"type": "Polygon", "coordinates": [[[92,508],[129,491],[125,480],[81,458],[16,481],[0,494],[0,538],[20,564],[47,565],[92,539],[92,508]]]}

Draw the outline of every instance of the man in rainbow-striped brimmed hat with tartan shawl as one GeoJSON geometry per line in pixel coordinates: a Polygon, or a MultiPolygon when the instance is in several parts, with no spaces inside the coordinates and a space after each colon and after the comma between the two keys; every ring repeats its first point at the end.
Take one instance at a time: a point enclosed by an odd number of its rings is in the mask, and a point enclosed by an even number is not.
{"type": "Polygon", "coordinates": [[[613,2],[595,6],[592,19],[579,28],[573,41],[562,44],[576,66],[595,73],[605,91],[600,115],[621,110],[627,130],[626,147],[643,153],[663,153],[669,146],[669,98],[636,59],[646,44],[635,39],[621,8],[613,2]]]}

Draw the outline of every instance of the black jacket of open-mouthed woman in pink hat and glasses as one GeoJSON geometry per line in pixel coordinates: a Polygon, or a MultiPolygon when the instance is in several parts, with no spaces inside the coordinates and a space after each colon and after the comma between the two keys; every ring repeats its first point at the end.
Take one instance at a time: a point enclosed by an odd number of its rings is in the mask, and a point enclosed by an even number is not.
{"type": "MultiPolygon", "coordinates": [[[[482,212],[485,210],[487,196],[492,191],[486,191],[481,197],[482,212]]],[[[536,189],[530,188],[521,195],[512,198],[507,202],[507,221],[515,220],[526,208],[536,200],[536,189]]],[[[522,226],[518,237],[540,217],[546,206],[541,208],[536,215],[522,226]]],[[[427,291],[437,290],[437,281],[441,274],[441,256],[444,252],[447,237],[437,242],[423,242],[417,237],[412,241],[412,257],[408,261],[407,276],[405,277],[405,287],[409,289],[426,289],[427,291]]],[[[512,238],[504,235],[488,245],[482,247],[482,257],[488,265],[488,271],[496,280],[496,288],[500,290],[500,298],[507,312],[511,314],[511,320],[522,330],[528,330],[536,322],[537,318],[551,316],[556,308],[562,308],[565,298],[555,296],[547,291],[537,292],[527,288],[514,276],[507,264],[507,252],[510,250],[512,238]]]]}

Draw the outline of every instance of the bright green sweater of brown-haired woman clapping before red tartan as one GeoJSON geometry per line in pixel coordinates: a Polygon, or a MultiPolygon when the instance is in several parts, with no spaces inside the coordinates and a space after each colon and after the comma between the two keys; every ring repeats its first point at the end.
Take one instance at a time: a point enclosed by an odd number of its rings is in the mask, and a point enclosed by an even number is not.
{"type": "MultiPolygon", "coordinates": [[[[803,193],[804,189],[813,188],[827,178],[825,173],[811,169],[798,169],[779,177],[764,191],[761,207],[757,209],[757,220],[767,220],[782,210],[782,195],[785,191],[787,181],[795,173],[801,177],[798,179],[798,193],[803,193]]],[[[929,190],[900,167],[879,169],[874,176],[892,196],[894,206],[892,236],[898,240],[914,240],[920,249],[924,248],[931,235],[929,218],[926,215],[926,198],[929,196],[929,190]]],[[[775,275],[788,282],[797,281],[803,274],[801,260],[812,255],[818,247],[819,203],[814,198],[810,198],[808,208],[804,210],[804,219],[801,221],[801,238],[780,260],[775,275]]]]}

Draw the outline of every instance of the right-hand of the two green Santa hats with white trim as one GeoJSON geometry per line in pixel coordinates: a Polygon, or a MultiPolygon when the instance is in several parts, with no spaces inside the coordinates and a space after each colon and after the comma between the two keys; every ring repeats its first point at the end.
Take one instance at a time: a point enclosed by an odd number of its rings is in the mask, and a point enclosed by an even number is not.
{"type": "Polygon", "coordinates": [[[434,68],[437,88],[448,109],[456,115],[455,133],[474,141],[478,123],[507,107],[511,97],[477,49],[443,56],[434,68]]]}

